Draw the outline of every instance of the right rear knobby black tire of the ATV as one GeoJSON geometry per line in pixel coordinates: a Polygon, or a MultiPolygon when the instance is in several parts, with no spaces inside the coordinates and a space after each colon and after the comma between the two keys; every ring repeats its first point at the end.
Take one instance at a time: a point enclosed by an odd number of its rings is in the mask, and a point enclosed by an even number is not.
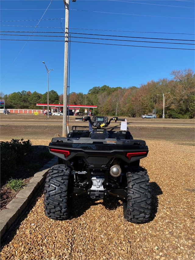
{"type": "Polygon", "coordinates": [[[127,200],[123,201],[123,213],[127,221],[145,223],[151,213],[151,190],[147,171],[142,167],[133,167],[126,173],[127,200]]]}

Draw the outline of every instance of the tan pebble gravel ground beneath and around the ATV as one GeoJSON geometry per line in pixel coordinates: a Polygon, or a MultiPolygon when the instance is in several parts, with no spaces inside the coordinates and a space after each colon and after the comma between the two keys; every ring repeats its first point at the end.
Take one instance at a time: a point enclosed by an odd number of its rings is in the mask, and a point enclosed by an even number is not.
{"type": "Polygon", "coordinates": [[[95,201],[87,196],[74,198],[70,220],[51,220],[44,215],[41,190],[4,238],[1,259],[195,259],[194,146],[151,140],[147,145],[141,165],[153,195],[148,223],[127,222],[115,197],[95,201]]]}

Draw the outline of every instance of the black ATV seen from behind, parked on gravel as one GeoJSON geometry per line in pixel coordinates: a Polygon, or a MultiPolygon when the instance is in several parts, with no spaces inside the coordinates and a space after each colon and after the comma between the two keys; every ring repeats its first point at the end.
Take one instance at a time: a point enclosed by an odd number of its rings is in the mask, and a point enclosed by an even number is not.
{"type": "Polygon", "coordinates": [[[59,164],[52,166],[46,177],[45,214],[65,220],[74,196],[87,194],[99,200],[112,195],[122,200],[127,221],[147,222],[151,190],[147,171],[140,167],[140,159],[148,154],[146,142],[134,140],[127,125],[126,130],[108,128],[112,120],[125,119],[83,116],[76,120],[88,121],[89,126],[72,126],[67,137],[54,137],[49,143],[49,151],[58,157],[59,164]]]}

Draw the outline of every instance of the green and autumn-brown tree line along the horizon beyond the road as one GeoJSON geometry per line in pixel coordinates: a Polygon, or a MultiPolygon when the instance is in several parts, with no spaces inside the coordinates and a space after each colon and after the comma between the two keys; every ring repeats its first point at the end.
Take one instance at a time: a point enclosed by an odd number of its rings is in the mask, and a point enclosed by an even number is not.
{"type": "MultiPolygon", "coordinates": [[[[95,115],[100,116],[141,116],[151,113],[156,108],[157,117],[162,117],[163,98],[165,96],[165,117],[194,118],[195,74],[192,69],[173,70],[172,79],[151,80],[139,88],[92,87],[87,94],[72,92],[69,95],[71,105],[97,105],[95,115]],[[85,97],[87,96],[87,97],[85,97]]],[[[5,108],[35,109],[37,103],[47,103],[47,92],[40,94],[34,91],[14,92],[9,95],[0,93],[5,99],[5,108]]],[[[63,94],[58,95],[54,90],[49,91],[50,104],[63,104],[63,94]]],[[[42,108],[42,107],[41,107],[42,108]]],[[[80,109],[81,112],[82,109],[80,109]]]]}

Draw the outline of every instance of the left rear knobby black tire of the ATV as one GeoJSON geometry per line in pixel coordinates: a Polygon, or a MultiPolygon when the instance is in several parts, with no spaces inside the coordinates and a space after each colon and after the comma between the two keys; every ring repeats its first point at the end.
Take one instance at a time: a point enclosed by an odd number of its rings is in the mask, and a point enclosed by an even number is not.
{"type": "Polygon", "coordinates": [[[44,212],[51,219],[68,219],[70,210],[70,169],[66,165],[52,166],[45,182],[44,212]]]}

